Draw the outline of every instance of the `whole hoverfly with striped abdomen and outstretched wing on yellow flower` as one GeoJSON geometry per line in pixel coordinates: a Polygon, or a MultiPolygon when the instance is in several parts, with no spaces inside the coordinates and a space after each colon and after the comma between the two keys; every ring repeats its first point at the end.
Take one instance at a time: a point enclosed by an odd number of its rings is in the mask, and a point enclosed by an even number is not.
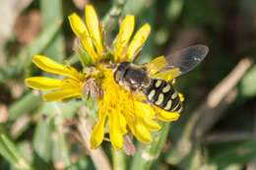
{"type": "Polygon", "coordinates": [[[141,66],[122,62],[113,70],[114,80],[131,90],[141,90],[150,103],[165,111],[180,112],[182,101],[171,81],[195,68],[208,51],[205,45],[193,45],[141,66]]]}

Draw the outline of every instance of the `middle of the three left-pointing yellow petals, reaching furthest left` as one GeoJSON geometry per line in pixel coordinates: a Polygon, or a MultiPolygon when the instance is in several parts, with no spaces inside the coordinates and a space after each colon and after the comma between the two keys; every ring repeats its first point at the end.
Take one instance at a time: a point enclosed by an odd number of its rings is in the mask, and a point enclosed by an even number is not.
{"type": "Polygon", "coordinates": [[[26,85],[34,89],[57,89],[62,85],[62,81],[44,77],[32,77],[25,80],[26,85]]]}

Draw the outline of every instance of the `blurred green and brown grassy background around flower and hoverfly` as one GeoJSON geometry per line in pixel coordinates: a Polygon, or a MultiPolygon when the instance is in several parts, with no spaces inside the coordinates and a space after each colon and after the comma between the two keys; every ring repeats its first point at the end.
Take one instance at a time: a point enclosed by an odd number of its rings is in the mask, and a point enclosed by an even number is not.
{"type": "Polygon", "coordinates": [[[0,21],[1,170],[256,169],[255,0],[0,0],[0,21]],[[46,103],[24,84],[43,74],[34,54],[81,69],[68,16],[83,17],[88,3],[109,37],[126,14],[136,16],[137,28],[152,26],[138,63],[193,44],[210,48],[177,79],[185,96],[180,119],[163,124],[155,145],[135,140],[134,156],[109,142],[90,150],[76,127],[81,101],[46,103]]]}

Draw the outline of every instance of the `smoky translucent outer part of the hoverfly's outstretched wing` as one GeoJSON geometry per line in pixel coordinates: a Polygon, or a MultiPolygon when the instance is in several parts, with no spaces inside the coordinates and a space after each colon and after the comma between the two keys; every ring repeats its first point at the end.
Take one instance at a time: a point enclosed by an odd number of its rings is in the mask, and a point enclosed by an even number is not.
{"type": "Polygon", "coordinates": [[[203,61],[208,51],[209,48],[206,45],[193,45],[181,49],[165,57],[166,66],[162,68],[160,72],[178,68],[178,76],[183,75],[194,69],[201,61],[203,61]]]}

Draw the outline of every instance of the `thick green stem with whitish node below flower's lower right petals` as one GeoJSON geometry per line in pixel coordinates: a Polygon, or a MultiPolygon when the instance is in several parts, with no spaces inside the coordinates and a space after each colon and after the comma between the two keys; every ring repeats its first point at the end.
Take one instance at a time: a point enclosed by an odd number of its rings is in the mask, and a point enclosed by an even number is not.
{"type": "Polygon", "coordinates": [[[140,144],[139,149],[135,153],[132,159],[132,170],[144,170],[150,169],[153,162],[160,156],[160,151],[166,141],[170,123],[160,122],[161,130],[158,133],[154,133],[153,142],[150,145],[140,144]]]}

